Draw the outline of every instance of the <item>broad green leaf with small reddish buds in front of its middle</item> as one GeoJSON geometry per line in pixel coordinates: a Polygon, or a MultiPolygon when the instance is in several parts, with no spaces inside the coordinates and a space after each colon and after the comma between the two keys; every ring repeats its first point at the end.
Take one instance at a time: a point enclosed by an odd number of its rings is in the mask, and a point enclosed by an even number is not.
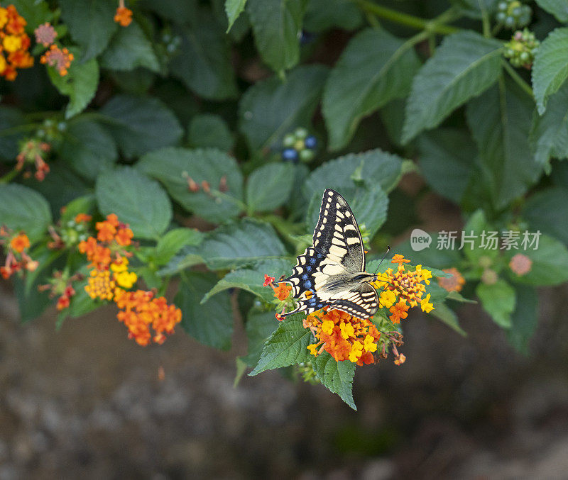
{"type": "Polygon", "coordinates": [[[187,150],[164,148],[150,152],[138,162],[146,174],[160,180],[168,193],[187,211],[192,211],[208,221],[223,222],[242,211],[243,176],[233,157],[213,148],[187,150]],[[220,191],[222,179],[226,191],[220,191]],[[216,196],[200,188],[191,191],[188,181],[198,185],[207,182],[216,196]]]}

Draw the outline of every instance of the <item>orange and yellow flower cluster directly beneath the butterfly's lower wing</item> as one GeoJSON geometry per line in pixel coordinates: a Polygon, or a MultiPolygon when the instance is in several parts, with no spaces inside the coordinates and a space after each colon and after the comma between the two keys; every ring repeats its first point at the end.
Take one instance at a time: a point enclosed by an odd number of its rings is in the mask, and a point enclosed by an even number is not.
{"type": "Polygon", "coordinates": [[[317,343],[308,350],[317,356],[323,350],[337,362],[349,360],[358,365],[375,362],[373,352],[381,333],[368,318],[361,319],[340,310],[323,309],[308,315],[304,328],[312,331],[317,343]]]}

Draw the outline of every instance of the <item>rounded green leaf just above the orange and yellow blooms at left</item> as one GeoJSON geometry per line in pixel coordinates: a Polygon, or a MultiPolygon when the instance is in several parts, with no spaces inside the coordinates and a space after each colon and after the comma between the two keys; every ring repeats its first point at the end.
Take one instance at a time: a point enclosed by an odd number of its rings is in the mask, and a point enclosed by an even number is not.
{"type": "Polygon", "coordinates": [[[103,215],[116,213],[136,238],[157,240],[172,220],[168,195],[158,182],[131,167],[103,172],[95,188],[103,215]]]}

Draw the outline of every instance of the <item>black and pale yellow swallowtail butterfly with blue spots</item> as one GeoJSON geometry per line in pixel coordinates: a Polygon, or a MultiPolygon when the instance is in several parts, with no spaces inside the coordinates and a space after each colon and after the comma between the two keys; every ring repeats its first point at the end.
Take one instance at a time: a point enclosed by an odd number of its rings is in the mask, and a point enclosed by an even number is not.
{"type": "Polygon", "coordinates": [[[365,272],[359,225],[349,204],[332,189],[324,191],[313,244],[297,257],[293,274],[283,280],[292,285],[297,299],[296,308],[283,316],[326,306],[359,318],[373,316],[378,296],[369,282],[377,277],[365,272]]]}

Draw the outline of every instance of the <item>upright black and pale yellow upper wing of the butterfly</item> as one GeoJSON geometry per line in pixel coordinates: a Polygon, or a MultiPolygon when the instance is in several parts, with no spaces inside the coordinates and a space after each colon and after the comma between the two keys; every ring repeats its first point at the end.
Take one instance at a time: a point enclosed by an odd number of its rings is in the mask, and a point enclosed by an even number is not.
{"type": "Polygon", "coordinates": [[[359,225],[337,191],[324,191],[313,241],[317,252],[329,262],[342,264],[349,272],[364,272],[365,253],[359,225]]]}

